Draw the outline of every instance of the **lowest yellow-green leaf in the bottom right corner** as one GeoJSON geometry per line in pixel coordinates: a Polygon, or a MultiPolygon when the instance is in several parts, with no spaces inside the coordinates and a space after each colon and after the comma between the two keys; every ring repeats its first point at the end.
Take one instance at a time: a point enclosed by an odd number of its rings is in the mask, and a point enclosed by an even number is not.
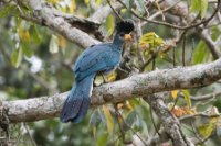
{"type": "Polygon", "coordinates": [[[214,130],[214,125],[212,123],[200,125],[198,127],[200,135],[203,137],[208,137],[212,134],[212,131],[214,130]]]}

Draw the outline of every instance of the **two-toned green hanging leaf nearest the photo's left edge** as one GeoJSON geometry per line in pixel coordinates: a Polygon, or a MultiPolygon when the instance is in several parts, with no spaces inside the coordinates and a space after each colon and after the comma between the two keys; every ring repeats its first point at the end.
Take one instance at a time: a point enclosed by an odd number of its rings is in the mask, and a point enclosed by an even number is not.
{"type": "Polygon", "coordinates": [[[21,64],[21,60],[22,60],[22,47],[20,46],[19,49],[15,48],[13,49],[11,54],[11,64],[15,68],[18,68],[21,64]]]}

